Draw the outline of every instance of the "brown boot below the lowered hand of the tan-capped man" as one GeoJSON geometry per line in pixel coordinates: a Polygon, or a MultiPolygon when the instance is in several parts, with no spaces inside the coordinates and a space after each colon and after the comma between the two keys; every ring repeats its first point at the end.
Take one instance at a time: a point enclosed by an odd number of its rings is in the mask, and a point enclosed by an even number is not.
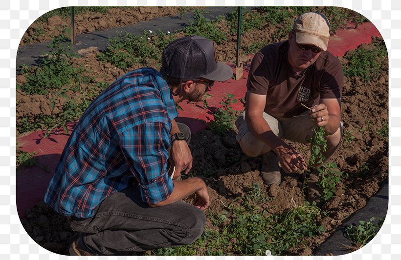
{"type": "Polygon", "coordinates": [[[262,167],[260,169],[263,181],[267,185],[277,184],[281,182],[280,166],[278,158],[273,152],[268,152],[262,156],[262,167]]]}

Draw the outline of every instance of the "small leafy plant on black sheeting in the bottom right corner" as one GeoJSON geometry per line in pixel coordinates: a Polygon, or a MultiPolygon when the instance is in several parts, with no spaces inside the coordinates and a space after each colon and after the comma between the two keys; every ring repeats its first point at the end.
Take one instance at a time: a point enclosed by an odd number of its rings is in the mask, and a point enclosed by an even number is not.
{"type": "Polygon", "coordinates": [[[351,225],[345,229],[345,236],[356,243],[357,248],[361,248],[372,240],[383,225],[384,218],[375,223],[375,217],[369,221],[359,221],[359,225],[351,225]]]}

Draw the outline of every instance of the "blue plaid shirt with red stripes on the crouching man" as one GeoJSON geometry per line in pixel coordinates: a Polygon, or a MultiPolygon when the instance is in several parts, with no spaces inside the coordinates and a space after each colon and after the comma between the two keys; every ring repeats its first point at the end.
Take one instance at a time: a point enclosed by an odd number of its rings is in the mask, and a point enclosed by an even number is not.
{"type": "Polygon", "coordinates": [[[171,120],[178,116],[170,89],[152,68],[113,82],[82,115],[69,137],[45,202],[65,216],[89,218],[107,196],[139,183],[142,200],[167,199],[171,120]]]}

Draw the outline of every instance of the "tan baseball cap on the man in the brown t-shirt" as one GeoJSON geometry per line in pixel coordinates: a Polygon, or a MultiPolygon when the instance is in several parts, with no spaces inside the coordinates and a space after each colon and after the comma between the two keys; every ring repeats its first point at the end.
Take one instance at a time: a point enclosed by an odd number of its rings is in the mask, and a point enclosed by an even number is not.
{"type": "Polygon", "coordinates": [[[319,12],[310,12],[300,15],[295,20],[292,29],[296,33],[298,44],[311,44],[326,51],[330,38],[330,23],[319,12]]]}

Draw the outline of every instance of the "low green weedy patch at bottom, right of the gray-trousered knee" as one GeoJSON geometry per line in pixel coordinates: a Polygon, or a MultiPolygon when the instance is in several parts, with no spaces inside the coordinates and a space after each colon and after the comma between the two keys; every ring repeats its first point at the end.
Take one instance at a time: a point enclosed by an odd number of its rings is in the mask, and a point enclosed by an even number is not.
{"type": "MultiPolygon", "coordinates": [[[[260,187],[259,187],[260,188],[260,187]]],[[[297,206],[287,212],[270,215],[250,202],[258,193],[254,186],[243,198],[224,205],[218,213],[209,211],[213,229],[205,230],[199,240],[187,246],[162,248],[152,255],[286,255],[299,248],[308,237],[321,234],[324,228],[317,224],[320,209],[309,204],[297,206]]]]}

